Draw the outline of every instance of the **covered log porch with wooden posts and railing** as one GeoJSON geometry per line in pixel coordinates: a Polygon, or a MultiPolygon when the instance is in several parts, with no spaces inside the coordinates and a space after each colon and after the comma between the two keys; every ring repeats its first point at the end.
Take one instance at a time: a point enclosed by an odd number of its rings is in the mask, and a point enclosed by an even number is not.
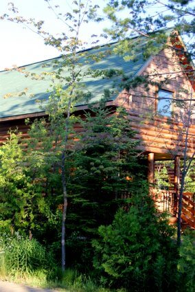
{"type": "MultiPolygon", "coordinates": [[[[170,213],[170,223],[176,223],[178,214],[179,186],[181,179],[181,161],[179,156],[174,159],[169,154],[148,153],[148,182],[150,183],[150,193],[154,199],[155,205],[160,212],[170,213]],[[165,185],[164,189],[158,186],[155,178],[155,162],[174,161],[172,169],[172,183],[165,185]]],[[[170,175],[170,174],[168,174],[170,175]]],[[[182,224],[183,227],[189,226],[195,228],[195,202],[192,192],[183,193],[182,224]]]]}

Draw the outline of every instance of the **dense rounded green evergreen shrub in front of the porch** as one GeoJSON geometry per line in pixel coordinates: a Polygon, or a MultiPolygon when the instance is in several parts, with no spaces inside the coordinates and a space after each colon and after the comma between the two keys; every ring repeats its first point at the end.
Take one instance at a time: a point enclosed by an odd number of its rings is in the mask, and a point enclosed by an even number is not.
{"type": "Polygon", "coordinates": [[[99,233],[100,240],[93,241],[94,266],[103,282],[130,291],[174,291],[174,230],[157,216],[146,186],[132,194],[129,211],[119,210],[99,233]]]}

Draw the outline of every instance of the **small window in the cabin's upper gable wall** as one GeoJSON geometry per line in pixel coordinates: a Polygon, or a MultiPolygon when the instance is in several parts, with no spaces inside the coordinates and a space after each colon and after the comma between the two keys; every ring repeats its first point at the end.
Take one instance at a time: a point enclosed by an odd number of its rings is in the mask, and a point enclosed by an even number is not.
{"type": "Polygon", "coordinates": [[[166,90],[159,90],[157,112],[161,115],[171,117],[173,93],[166,90]]]}

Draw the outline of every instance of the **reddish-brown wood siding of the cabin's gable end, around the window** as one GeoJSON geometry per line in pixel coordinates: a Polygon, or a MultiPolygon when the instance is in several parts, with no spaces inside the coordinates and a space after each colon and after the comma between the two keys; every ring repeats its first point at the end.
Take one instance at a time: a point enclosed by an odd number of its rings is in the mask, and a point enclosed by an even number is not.
{"type": "MultiPolygon", "coordinates": [[[[154,56],[148,66],[140,71],[140,75],[149,76],[149,80],[154,83],[162,82],[161,89],[173,93],[175,101],[172,117],[157,115],[159,87],[155,84],[148,84],[148,90],[144,85],[139,85],[128,92],[124,91],[117,98],[116,104],[123,104],[128,110],[130,124],[137,132],[137,139],[141,141],[141,150],[156,153],[155,159],[183,156],[188,124],[187,109],[190,98],[195,99],[192,89],[194,80],[189,80],[173,49],[164,49],[154,56]],[[185,100],[185,104],[181,100],[185,100]],[[162,155],[158,155],[159,153],[162,155]]],[[[189,156],[193,155],[195,149],[194,120],[192,115],[187,138],[189,156]]]]}

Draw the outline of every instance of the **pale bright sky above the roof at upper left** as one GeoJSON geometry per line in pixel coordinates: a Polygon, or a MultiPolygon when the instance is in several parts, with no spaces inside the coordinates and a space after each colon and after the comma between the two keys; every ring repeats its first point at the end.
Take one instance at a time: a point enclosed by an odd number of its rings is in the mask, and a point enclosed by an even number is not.
{"type": "MultiPolygon", "coordinates": [[[[67,28],[63,23],[56,20],[54,13],[47,8],[45,0],[0,0],[0,16],[8,13],[8,3],[14,2],[14,5],[19,8],[20,15],[25,18],[34,17],[35,19],[45,20],[45,28],[52,33],[66,30],[67,28]],[[64,26],[64,27],[63,27],[64,26]]],[[[71,0],[56,0],[64,11],[70,9],[71,0]]],[[[97,1],[93,1],[97,3],[97,1]]],[[[98,0],[98,4],[104,6],[104,0],[98,0]]],[[[86,38],[87,35],[96,31],[102,31],[105,24],[96,23],[90,26],[85,25],[82,31],[82,37],[86,38]]],[[[13,65],[23,66],[30,63],[35,63],[49,58],[59,56],[58,50],[50,46],[45,46],[43,39],[31,32],[24,29],[23,25],[12,23],[9,21],[0,21],[1,33],[1,55],[0,55],[0,71],[5,68],[10,68],[13,65]]]]}

